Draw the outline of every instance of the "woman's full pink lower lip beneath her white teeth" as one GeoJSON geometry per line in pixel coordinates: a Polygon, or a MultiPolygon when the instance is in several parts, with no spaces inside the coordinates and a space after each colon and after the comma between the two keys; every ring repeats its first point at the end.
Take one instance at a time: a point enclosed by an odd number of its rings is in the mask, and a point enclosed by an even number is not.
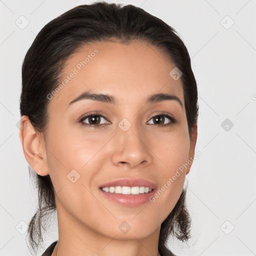
{"type": "Polygon", "coordinates": [[[109,200],[112,200],[113,202],[123,205],[123,206],[138,206],[143,203],[146,203],[149,201],[149,197],[154,194],[155,189],[152,189],[151,192],[148,193],[142,193],[142,194],[121,194],[121,193],[110,193],[105,192],[100,189],[100,191],[103,193],[106,198],[109,200]]]}

